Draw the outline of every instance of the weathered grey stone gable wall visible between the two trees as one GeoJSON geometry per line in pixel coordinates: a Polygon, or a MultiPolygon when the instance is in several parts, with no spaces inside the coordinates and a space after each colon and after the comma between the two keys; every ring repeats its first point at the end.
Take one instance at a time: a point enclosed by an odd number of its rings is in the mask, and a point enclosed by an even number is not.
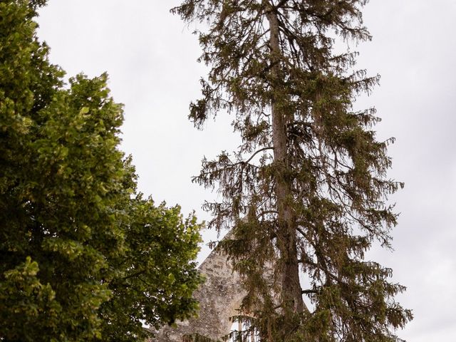
{"type": "Polygon", "coordinates": [[[199,271],[206,281],[195,291],[200,308],[198,318],[177,322],[175,328],[165,326],[150,342],[182,342],[185,335],[195,333],[217,341],[231,331],[229,318],[239,314],[237,309],[245,296],[239,274],[233,272],[224,254],[215,251],[203,261],[199,271]]]}

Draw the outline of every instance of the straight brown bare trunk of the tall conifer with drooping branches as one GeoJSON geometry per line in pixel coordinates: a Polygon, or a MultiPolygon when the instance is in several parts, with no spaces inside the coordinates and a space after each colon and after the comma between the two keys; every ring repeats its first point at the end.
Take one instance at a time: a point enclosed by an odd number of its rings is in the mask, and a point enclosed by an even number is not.
{"type": "Polygon", "coordinates": [[[281,72],[279,60],[279,23],[273,9],[266,14],[269,21],[271,47],[271,76],[273,82],[273,100],[271,100],[272,143],[274,163],[276,165],[276,205],[278,211],[278,232],[280,262],[282,269],[281,296],[284,301],[284,314],[300,314],[304,311],[304,301],[299,282],[299,262],[296,247],[296,229],[294,213],[291,209],[291,184],[288,179],[289,163],[287,160],[286,113],[281,92],[281,72]]]}

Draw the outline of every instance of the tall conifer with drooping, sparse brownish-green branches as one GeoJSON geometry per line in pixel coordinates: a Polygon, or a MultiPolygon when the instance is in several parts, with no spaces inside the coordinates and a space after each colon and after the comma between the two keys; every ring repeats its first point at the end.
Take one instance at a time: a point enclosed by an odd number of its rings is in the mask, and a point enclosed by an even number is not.
{"type": "Polygon", "coordinates": [[[387,178],[387,147],[375,109],[354,110],[378,76],[357,71],[356,53],[335,43],[366,41],[367,0],[185,0],[172,9],[199,21],[210,66],[197,128],[234,116],[242,143],[204,159],[195,182],[218,187],[211,227],[244,276],[242,309],[261,341],[400,341],[411,311],[394,299],[391,270],[364,259],[390,248],[397,214],[386,200],[403,185],[387,178]],[[272,280],[263,269],[273,265],[272,280]]]}

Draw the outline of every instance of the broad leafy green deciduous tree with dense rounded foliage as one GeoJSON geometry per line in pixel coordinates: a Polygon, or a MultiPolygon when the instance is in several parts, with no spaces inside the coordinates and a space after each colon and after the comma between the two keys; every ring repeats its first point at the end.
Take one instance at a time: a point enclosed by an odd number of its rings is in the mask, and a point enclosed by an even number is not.
{"type": "Polygon", "coordinates": [[[0,1],[0,341],[140,341],[195,314],[199,228],[136,191],[107,76],[71,78],[0,1]]]}

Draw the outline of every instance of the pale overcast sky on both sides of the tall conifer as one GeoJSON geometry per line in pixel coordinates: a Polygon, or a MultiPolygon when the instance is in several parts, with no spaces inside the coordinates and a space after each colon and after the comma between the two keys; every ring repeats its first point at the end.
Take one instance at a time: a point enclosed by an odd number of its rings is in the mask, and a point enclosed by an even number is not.
{"type": "MultiPolygon", "coordinates": [[[[217,194],[191,177],[204,155],[235,150],[238,140],[229,117],[202,131],[187,120],[207,68],[196,61],[195,26],[169,13],[179,3],[49,0],[38,36],[68,76],[110,75],[113,98],[125,104],[122,149],[133,155],[139,190],[207,220],[201,204],[217,194]]],[[[356,47],[358,67],[382,78],[356,105],[378,109],[379,140],[396,138],[389,176],[405,182],[390,198],[401,213],[395,250],[375,248],[368,258],[408,287],[397,298],[415,319],[398,331],[401,338],[456,341],[456,0],[371,0],[363,14],[373,41],[356,47]]],[[[217,239],[214,232],[203,237],[217,239]]],[[[208,252],[203,247],[199,261],[208,252]]]]}

